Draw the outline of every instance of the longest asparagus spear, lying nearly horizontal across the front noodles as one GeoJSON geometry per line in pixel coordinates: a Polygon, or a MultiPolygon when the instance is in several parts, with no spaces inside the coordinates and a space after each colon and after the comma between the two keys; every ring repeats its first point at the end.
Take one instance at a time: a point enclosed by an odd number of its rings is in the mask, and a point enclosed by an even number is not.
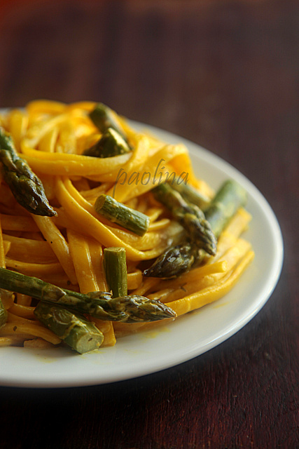
{"type": "Polygon", "coordinates": [[[111,293],[73,292],[31,276],[0,268],[0,288],[24,293],[43,302],[67,307],[81,314],[90,314],[104,321],[157,321],[176,316],[172,309],[144,296],[127,295],[112,298],[111,293]]]}

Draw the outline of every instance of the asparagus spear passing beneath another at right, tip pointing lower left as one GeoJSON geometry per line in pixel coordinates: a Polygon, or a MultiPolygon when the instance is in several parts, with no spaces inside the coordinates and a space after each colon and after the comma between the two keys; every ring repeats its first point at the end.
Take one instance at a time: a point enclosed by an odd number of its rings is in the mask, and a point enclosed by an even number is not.
{"type": "MultiPolygon", "coordinates": [[[[243,187],[232,180],[223,183],[205,211],[206,219],[216,237],[245,203],[246,191],[243,187]]],[[[192,241],[182,243],[181,246],[171,247],[165,254],[160,255],[153,265],[144,271],[144,275],[160,278],[177,277],[196,267],[203,258],[204,251],[198,250],[195,243],[192,241]]]]}

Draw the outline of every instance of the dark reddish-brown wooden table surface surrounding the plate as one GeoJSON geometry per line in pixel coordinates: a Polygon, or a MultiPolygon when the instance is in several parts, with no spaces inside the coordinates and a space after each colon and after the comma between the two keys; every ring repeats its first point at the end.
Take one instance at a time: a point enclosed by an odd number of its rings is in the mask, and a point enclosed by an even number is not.
{"type": "Polygon", "coordinates": [[[298,448],[299,2],[0,4],[0,107],[100,100],[193,140],[260,189],[285,246],[265,307],[202,356],[115,384],[0,388],[0,448],[298,448]]]}

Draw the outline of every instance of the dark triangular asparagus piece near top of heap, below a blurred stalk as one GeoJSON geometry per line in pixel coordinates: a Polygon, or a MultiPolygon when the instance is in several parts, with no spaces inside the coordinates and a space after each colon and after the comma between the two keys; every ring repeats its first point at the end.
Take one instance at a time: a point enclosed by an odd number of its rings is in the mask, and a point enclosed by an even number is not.
{"type": "Polygon", "coordinates": [[[127,145],[122,136],[113,128],[108,128],[95,145],[85,149],[83,155],[104,158],[118,156],[130,151],[129,145],[127,145]]]}

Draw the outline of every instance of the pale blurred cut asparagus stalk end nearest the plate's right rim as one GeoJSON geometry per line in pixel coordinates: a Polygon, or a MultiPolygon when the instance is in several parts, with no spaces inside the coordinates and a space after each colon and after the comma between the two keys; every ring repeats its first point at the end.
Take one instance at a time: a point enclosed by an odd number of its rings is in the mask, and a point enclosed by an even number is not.
{"type": "Polygon", "coordinates": [[[221,185],[204,212],[216,237],[220,236],[237,210],[245,206],[246,201],[246,190],[237,182],[227,180],[221,185]]]}

